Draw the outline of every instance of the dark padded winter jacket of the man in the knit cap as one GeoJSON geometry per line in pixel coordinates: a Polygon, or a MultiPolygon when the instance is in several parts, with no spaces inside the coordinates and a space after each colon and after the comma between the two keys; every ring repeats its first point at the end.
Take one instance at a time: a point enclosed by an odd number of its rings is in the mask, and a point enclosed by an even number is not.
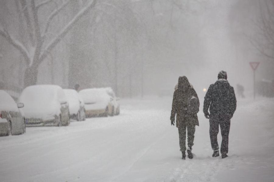
{"type": "Polygon", "coordinates": [[[211,116],[231,119],[236,110],[236,102],[234,88],[226,79],[218,79],[206,92],[203,112],[209,114],[209,108],[211,116]]]}

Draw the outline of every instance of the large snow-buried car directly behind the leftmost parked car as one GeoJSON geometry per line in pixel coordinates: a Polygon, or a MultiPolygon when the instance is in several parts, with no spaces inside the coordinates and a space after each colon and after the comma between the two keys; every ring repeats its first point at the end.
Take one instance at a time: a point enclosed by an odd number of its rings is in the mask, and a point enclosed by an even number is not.
{"type": "Polygon", "coordinates": [[[58,85],[33,85],[25,88],[19,97],[26,126],[69,125],[68,102],[58,85]]]}

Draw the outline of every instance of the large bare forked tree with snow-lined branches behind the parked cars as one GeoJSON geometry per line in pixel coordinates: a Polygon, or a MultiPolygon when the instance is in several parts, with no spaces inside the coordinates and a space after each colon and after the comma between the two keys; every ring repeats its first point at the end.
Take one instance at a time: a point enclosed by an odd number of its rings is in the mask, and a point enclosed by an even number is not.
{"type": "MultiPolygon", "coordinates": [[[[72,27],[79,21],[81,17],[86,15],[97,4],[97,0],[88,1],[82,9],[57,33],[50,41],[48,41],[49,27],[52,20],[72,0],[60,1],[61,4],[51,12],[45,22],[39,22],[38,15],[42,7],[47,7],[50,3],[56,3],[53,0],[43,0],[36,3],[35,0],[20,0],[23,12],[24,22],[27,27],[27,39],[30,46],[15,38],[5,27],[0,25],[0,36],[4,37],[12,46],[14,46],[22,54],[26,64],[24,74],[24,86],[36,84],[39,65],[45,60],[49,53],[54,50],[55,46],[67,35],[72,27]]],[[[57,3],[56,3],[57,4],[57,3]]]]}

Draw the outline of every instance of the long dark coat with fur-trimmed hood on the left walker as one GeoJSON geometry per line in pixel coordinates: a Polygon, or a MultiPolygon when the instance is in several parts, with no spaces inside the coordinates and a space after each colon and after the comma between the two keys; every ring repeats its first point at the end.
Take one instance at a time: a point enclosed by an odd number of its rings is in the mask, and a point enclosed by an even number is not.
{"type": "Polygon", "coordinates": [[[170,120],[175,121],[176,115],[176,127],[179,128],[182,125],[199,125],[197,112],[199,111],[199,99],[196,91],[188,82],[187,77],[179,77],[178,88],[175,88],[172,101],[172,110],[170,120]],[[195,99],[192,101],[196,104],[190,108],[191,98],[195,99]],[[198,109],[197,109],[198,108],[198,109]]]}

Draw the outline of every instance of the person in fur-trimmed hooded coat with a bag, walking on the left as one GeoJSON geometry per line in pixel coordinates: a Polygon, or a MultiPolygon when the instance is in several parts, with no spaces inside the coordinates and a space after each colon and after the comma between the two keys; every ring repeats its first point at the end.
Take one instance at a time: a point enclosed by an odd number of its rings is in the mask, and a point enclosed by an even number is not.
{"type": "Polygon", "coordinates": [[[170,120],[171,125],[174,125],[176,115],[176,127],[179,131],[180,151],[182,152],[182,159],[184,160],[186,156],[186,129],[188,129],[188,158],[193,158],[191,150],[194,144],[193,141],[195,125],[199,125],[197,117],[199,105],[200,103],[197,93],[192,87],[192,85],[188,82],[187,77],[179,77],[178,86],[175,86],[175,91],[173,94],[170,120]]]}

